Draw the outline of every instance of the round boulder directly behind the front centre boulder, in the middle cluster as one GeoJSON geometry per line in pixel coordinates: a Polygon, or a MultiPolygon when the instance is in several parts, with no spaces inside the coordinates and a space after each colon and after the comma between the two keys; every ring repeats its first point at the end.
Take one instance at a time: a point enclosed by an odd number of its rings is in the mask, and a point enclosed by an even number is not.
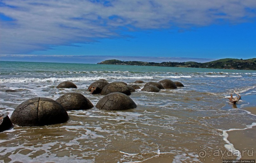
{"type": "Polygon", "coordinates": [[[126,95],[131,95],[131,91],[120,82],[112,82],[107,84],[101,91],[101,95],[108,95],[113,92],[121,92],[126,95]]]}

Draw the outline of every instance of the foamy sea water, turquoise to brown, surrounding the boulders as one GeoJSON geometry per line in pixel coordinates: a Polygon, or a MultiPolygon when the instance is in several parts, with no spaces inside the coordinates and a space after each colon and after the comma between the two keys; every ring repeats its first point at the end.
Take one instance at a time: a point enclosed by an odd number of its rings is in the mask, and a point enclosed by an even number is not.
{"type": "Polygon", "coordinates": [[[68,111],[62,124],[14,125],[1,132],[0,162],[222,162],[241,158],[228,131],[256,126],[256,116],[243,109],[256,107],[253,70],[5,61],[0,68],[0,112],[9,117],[30,98],[56,100],[68,92],[81,93],[94,105],[68,111]],[[87,91],[99,79],[128,85],[170,79],[185,87],[137,89],[129,96],[137,108],[104,111],[95,108],[103,95],[87,91]],[[77,89],[56,88],[63,81],[77,89]],[[234,90],[242,96],[237,104],[227,99],[234,90]]]}

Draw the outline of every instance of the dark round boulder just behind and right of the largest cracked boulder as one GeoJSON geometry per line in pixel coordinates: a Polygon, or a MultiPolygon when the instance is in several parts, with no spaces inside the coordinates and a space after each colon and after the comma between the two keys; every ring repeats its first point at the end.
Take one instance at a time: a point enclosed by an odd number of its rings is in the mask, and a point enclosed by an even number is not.
{"type": "Polygon", "coordinates": [[[93,104],[80,93],[66,93],[57,100],[65,110],[86,110],[93,108],[93,104]]]}

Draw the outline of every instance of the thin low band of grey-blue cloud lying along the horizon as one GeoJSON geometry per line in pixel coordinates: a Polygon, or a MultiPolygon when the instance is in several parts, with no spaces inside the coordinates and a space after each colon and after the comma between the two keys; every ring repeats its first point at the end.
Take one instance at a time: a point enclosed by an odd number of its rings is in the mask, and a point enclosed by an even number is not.
{"type": "Polygon", "coordinates": [[[189,57],[146,57],[146,56],[115,56],[115,55],[17,55],[0,54],[0,61],[24,61],[24,62],[59,62],[59,63],[98,63],[109,59],[121,61],[144,62],[210,62],[213,58],[189,58],[189,57]]]}

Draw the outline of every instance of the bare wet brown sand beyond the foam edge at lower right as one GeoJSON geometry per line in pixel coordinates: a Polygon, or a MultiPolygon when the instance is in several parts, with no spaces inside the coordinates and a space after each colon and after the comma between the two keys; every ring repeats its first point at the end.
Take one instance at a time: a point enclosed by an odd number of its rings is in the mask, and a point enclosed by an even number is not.
{"type": "MultiPolygon", "coordinates": [[[[246,111],[251,112],[251,114],[256,115],[256,107],[246,107],[243,108],[246,111]]],[[[248,128],[245,130],[235,130],[227,132],[228,138],[227,140],[230,141],[234,145],[234,147],[242,153],[242,150],[246,150],[244,155],[242,155],[242,160],[256,159],[256,126],[253,128],[248,128]],[[247,153],[249,151],[249,154],[247,153]],[[253,150],[253,156],[252,155],[253,150]]]]}

